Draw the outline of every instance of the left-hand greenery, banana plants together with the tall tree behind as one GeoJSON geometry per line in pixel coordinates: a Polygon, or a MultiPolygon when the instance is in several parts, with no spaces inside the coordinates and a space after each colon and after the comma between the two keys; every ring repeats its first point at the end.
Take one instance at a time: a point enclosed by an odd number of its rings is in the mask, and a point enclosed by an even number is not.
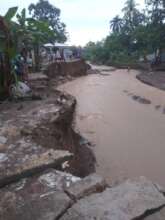
{"type": "Polygon", "coordinates": [[[65,25],[60,21],[60,10],[46,0],[39,0],[17,13],[18,8],[10,8],[5,16],[0,16],[0,96],[8,94],[10,85],[17,81],[14,61],[24,50],[35,55],[35,69],[40,67],[40,46],[44,43],[65,42],[65,25]],[[15,19],[13,19],[15,18],[15,19]]]}

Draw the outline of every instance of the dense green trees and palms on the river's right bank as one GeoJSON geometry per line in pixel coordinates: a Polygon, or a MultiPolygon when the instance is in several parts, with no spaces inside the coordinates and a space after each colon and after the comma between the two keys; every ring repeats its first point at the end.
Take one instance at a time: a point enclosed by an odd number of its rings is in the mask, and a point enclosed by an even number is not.
{"type": "Polygon", "coordinates": [[[147,54],[161,56],[165,49],[165,1],[146,0],[139,10],[135,0],[127,0],[121,13],[110,21],[110,34],[101,42],[89,42],[86,59],[115,66],[135,66],[147,54]]]}

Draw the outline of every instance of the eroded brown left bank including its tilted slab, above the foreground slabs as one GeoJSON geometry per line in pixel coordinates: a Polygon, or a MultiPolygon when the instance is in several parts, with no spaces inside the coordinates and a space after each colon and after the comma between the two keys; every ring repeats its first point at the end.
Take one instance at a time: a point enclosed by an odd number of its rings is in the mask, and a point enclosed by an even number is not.
{"type": "MultiPolygon", "coordinates": [[[[82,141],[85,139],[74,130],[74,97],[57,91],[49,83],[51,78],[43,74],[31,75],[29,80],[33,91],[42,99],[6,100],[0,104],[0,167],[12,177],[2,175],[1,182],[5,179],[3,185],[51,167],[80,177],[93,173],[95,157],[91,146],[89,142],[82,141]],[[66,160],[64,164],[62,161],[51,162],[49,157],[58,150],[64,154],[70,152],[74,155],[72,160],[66,160]],[[43,166],[44,160],[48,166],[43,166]]],[[[5,172],[1,174],[6,175],[5,172]]]]}

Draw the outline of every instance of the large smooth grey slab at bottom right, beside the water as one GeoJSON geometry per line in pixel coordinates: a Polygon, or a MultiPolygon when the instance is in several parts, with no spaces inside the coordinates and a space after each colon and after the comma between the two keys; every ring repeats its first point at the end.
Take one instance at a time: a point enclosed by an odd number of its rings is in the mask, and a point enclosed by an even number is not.
{"type": "Polygon", "coordinates": [[[157,187],[140,177],[79,200],[61,220],[133,220],[164,205],[157,187]]]}

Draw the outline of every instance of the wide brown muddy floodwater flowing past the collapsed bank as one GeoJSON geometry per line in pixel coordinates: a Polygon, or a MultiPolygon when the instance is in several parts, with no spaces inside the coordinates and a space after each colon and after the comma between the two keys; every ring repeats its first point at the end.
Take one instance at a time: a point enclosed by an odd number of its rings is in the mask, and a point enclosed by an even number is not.
{"type": "Polygon", "coordinates": [[[95,144],[97,173],[109,183],[143,175],[165,187],[165,92],[138,81],[136,71],[99,68],[103,75],[60,87],[77,98],[77,127],[95,144]]]}

